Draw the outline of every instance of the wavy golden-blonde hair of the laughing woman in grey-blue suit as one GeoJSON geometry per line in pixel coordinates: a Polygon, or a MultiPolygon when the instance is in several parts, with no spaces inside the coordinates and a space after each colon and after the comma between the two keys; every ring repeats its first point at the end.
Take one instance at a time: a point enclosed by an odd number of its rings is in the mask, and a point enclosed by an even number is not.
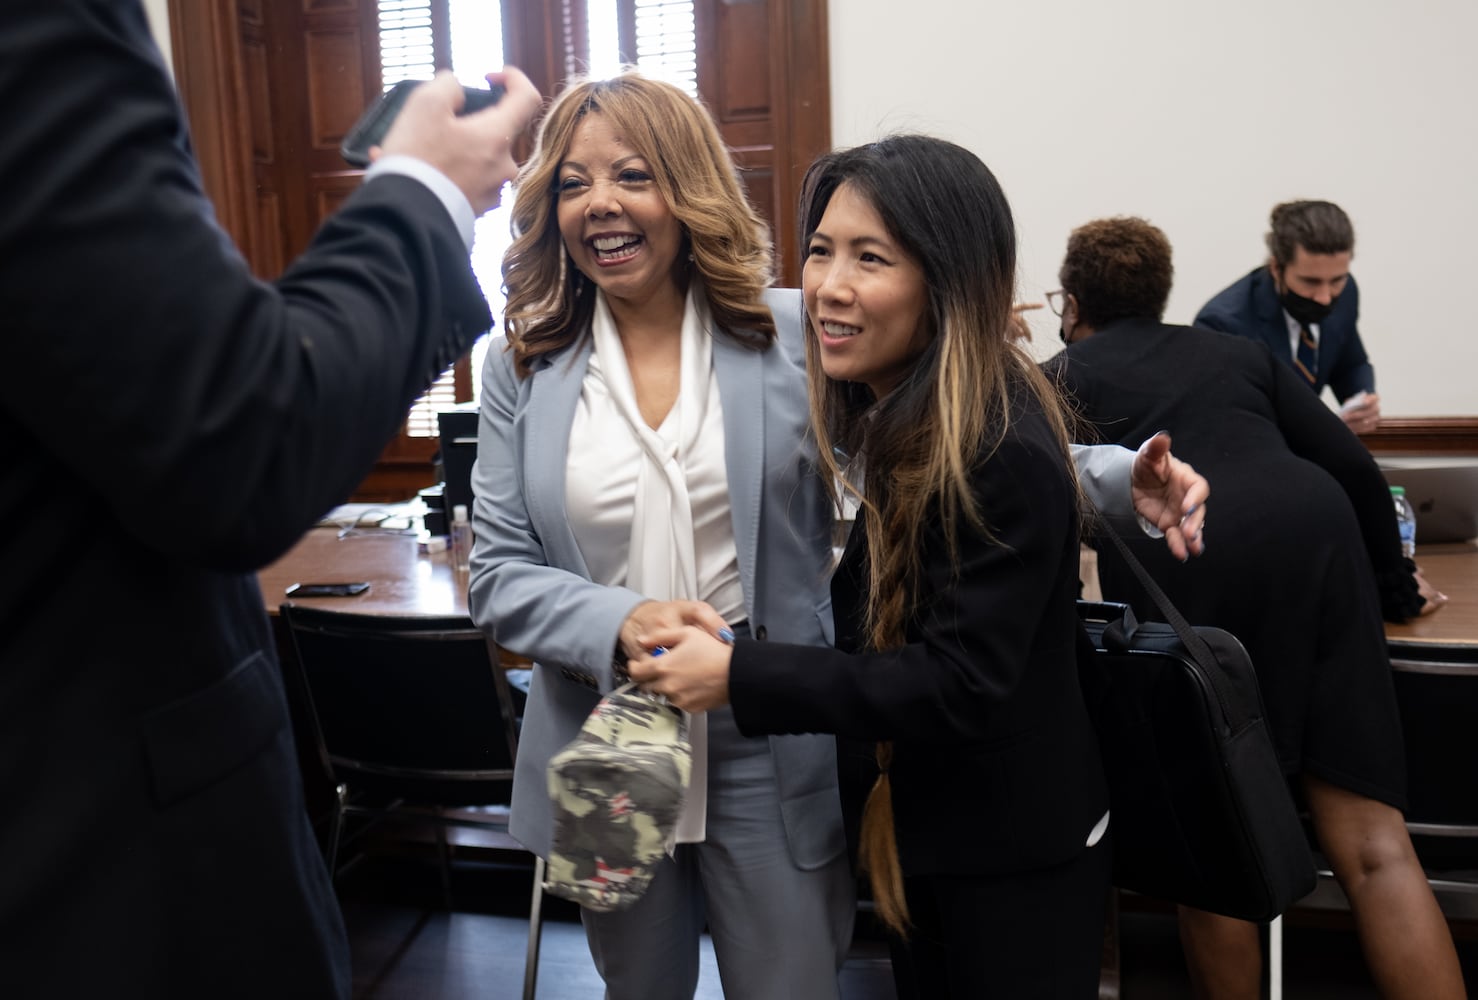
{"type": "Polygon", "coordinates": [[[714,322],[757,350],[769,347],[774,318],[761,294],[773,279],[770,230],[745,196],[718,127],[678,87],[627,71],[612,80],[572,81],[550,106],[534,155],[519,173],[513,245],[503,258],[503,322],[519,375],[590,326],[596,287],[565,250],[556,182],[575,130],[593,114],[606,115],[650,165],[683,227],[683,250],[692,254],[684,276],[701,278],[714,322]]]}

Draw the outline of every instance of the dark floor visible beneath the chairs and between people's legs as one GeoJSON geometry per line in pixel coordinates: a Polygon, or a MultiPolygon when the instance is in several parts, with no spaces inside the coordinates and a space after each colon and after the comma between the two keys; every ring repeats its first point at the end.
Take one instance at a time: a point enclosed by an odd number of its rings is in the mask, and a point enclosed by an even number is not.
{"type": "MultiPolygon", "coordinates": [[[[532,882],[522,866],[454,864],[452,908],[429,858],[365,858],[340,879],[361,1000],[505,1000],[522,996],[532,882]]],[[[599,1000],[600,979],[573,907],[545,901],[539,1000],[599,1000]]],[[[1286,1000],[1375,1000],[1348,914],[1284,922],[1286,1000]]],[[[1459,928],[1469,985],[1478,984],[1478,934],[1459,928]]],[[[1120,913],[1123,1000],[1188,996],[1174,914],[1128,900],[1120,913]]],[[[841,973],[844,1000],[894,1000],[885,945],[863,926],[841,973]]],[[[981,997],[990,996],[989,982],[981,997]]],[[[721,1000],[712,948],[704,948],[698,1000],[721,1000]]]]}

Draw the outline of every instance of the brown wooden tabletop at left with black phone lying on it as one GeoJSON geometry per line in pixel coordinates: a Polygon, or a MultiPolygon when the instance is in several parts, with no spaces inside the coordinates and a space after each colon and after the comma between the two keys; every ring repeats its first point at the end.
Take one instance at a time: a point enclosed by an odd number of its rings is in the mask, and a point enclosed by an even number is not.
{"type": "Polygon", "coordinates": [[[294,598],[296,604],[365,614],[466,616],[467,575],[455,573],[449,552],[426,554],[414,535],[315,527],[282,558],[257,575],[268,613],[276,614],[293,583],[368,581],[358,597],[294,598]]]}

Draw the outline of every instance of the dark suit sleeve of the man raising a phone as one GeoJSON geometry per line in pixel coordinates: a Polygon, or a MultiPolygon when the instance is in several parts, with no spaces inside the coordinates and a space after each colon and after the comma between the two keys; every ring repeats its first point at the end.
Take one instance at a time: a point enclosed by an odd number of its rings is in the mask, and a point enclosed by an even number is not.
{"type": "Polygon", "coordinates": [[[134,3],[7,4],[0,97],[0,424],[123,524],[167,510],[166,554],[270,561],[489,323],[455,225],[405,177],[254,279],[134,3]]]}

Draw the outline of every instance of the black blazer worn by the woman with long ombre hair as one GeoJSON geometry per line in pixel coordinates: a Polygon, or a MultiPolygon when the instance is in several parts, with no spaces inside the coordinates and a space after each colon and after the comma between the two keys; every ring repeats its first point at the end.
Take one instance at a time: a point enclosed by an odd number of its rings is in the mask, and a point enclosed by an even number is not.
{"type": "MultiPolygon", "coordinates": [[[[838,648],[745,641],[729,681],[740,731],[835,733],[856,824],[866,768],[851,742],[894,740],[893,811],[905,874],[1007,873],[1069,860],[1108,806],[1077,687],[1077,501],[1041,412],[971,474],[996,539],[958,539],[959,572],[931,518],[924,606],[906,644],[859,653],[866,536],[832,578],[838,648]]],[[[848,832],[856,843],[856,829],[848,832]]]]}

